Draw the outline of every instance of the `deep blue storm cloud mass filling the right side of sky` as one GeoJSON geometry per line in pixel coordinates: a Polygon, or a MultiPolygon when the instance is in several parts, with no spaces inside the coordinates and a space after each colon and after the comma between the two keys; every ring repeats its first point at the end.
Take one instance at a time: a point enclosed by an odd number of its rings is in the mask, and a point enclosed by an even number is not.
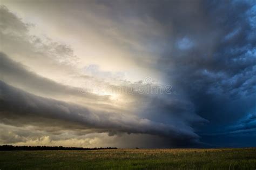
{"type": "Polygon", "coordinates": [[[197,114],[209,120],[203,131],[219,131],[256,106],[253,5],[244,1],[205,3],[207,10],[201,14],[207,18],[205,22],[197,17],[184,22],[182,28],[172,25],[181,38],[188,37],[194,45],[186,50],[174,48],[159,65],[166,65],[173,86],[188,96],[197,114]],[[200,33],[193,29],[196,26],[202,29],[200,33]]]}

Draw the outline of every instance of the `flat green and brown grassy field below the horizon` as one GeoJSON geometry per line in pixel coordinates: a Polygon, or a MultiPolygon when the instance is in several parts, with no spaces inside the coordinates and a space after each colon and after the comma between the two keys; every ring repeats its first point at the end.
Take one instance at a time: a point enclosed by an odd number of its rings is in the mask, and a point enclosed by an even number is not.
{"type": "Polygon", "coordinates": [[[256,148],[0,151],[0,169],[255,169],[256,148]]]}

